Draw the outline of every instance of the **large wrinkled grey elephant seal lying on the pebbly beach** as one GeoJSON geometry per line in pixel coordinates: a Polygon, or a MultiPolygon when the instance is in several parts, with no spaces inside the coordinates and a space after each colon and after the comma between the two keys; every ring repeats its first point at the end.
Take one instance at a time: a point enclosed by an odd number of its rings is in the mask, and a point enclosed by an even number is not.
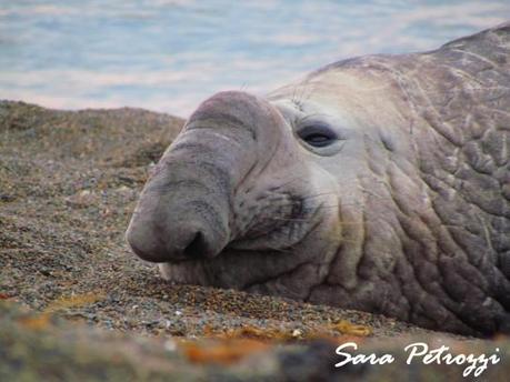
{"type": "Polygon", "coordinates": [[[507,23],[218,93],[156,165],[128,242],[178,283],[508,333],[509,89],[507,23]]]}

